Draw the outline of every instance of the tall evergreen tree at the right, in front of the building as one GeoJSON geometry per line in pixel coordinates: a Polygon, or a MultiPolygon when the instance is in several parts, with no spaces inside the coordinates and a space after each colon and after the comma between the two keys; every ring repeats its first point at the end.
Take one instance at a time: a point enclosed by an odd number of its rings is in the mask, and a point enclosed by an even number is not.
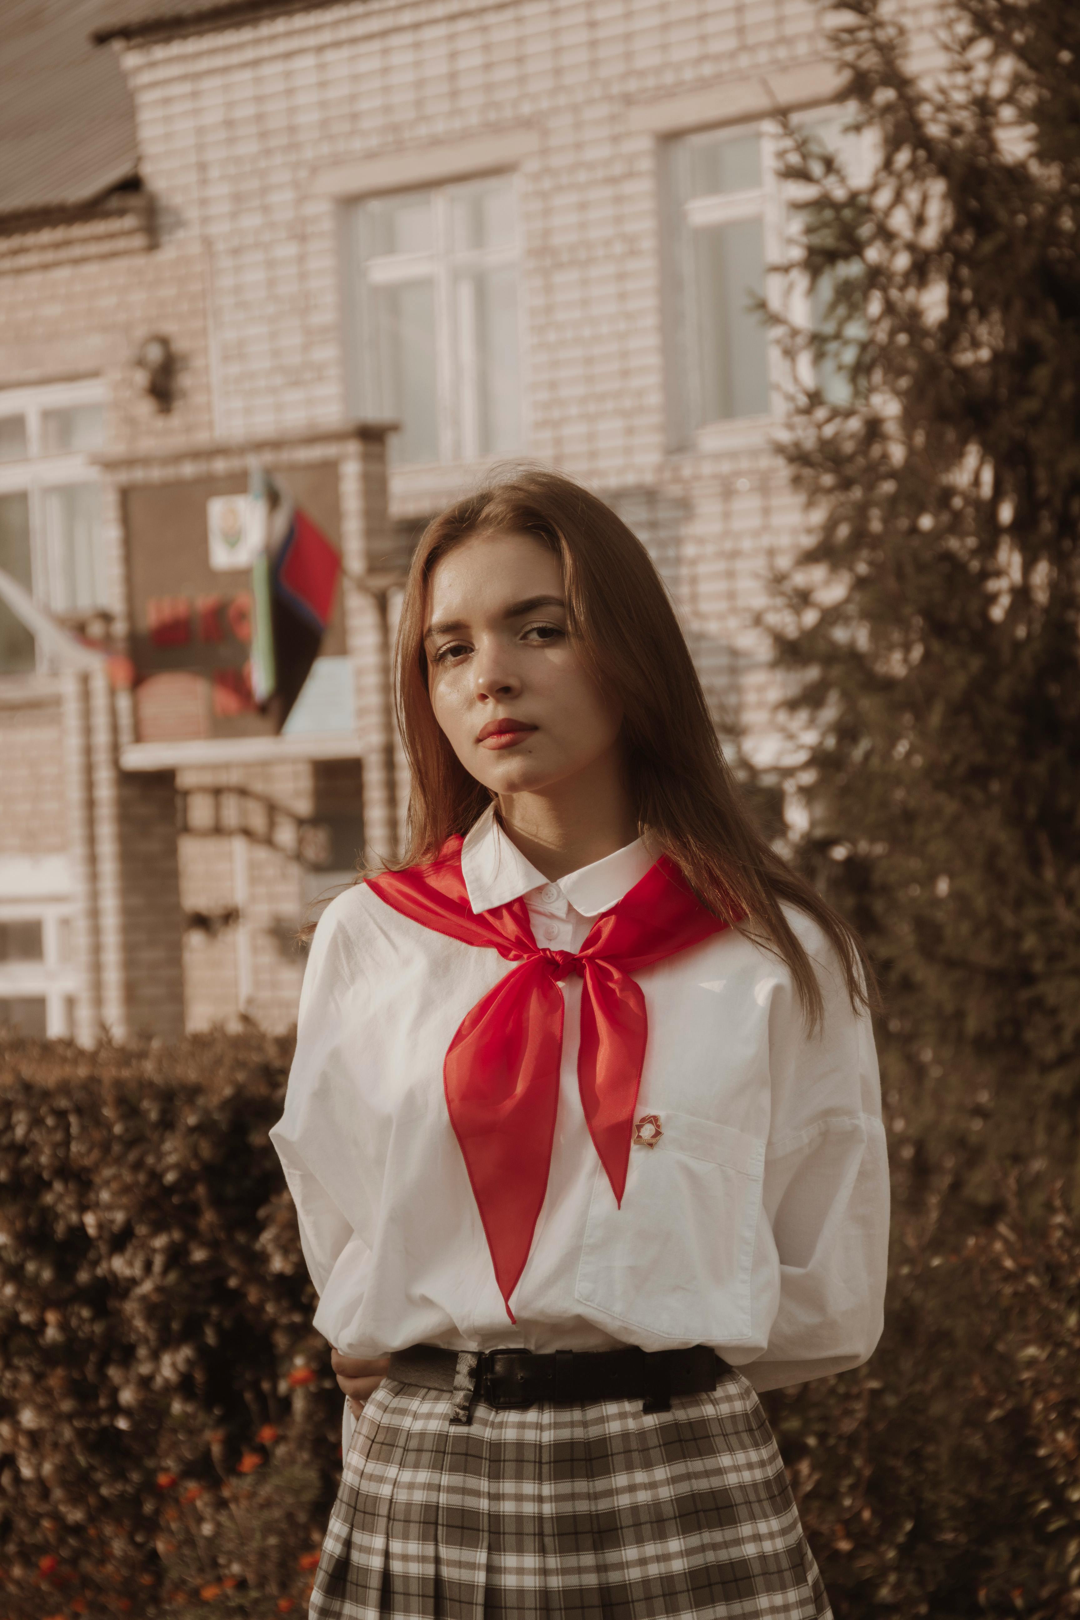
{"type": "Polygon", "coordinates": [[[946,0],[933,79],[894,18],[834,34],[871,178],[785,160],[824,306],[785,327],[811,544],[772,620],[801,859],[871,949],[920,1155],[1041,1155],[1080,1207],[1080,6],[946,0]]]}

